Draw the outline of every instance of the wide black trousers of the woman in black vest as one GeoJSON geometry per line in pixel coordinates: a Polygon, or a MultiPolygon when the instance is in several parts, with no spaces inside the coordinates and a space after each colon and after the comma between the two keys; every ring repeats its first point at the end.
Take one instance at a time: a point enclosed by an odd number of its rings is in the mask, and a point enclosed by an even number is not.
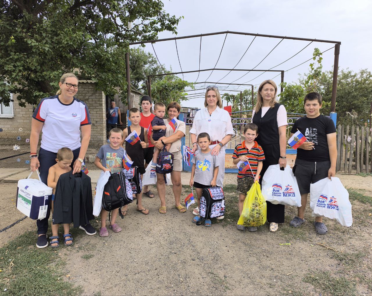
{"type": "MultiPolygon", "coordinates": [[[[261,145],[261,144],[260,144],[261,145]]],[[[280,146],[278,144],[266,144],[261,145],[263,153],[265,154],[265,160],[262,162],[260,185],[263,179],[263,175],[267,168],[271,165],[277,165],[280,157],[280,146]]],[[[284,205],[274,205],[267,201],[267,221],[275,223],[284,223],[284,205]]]]}

